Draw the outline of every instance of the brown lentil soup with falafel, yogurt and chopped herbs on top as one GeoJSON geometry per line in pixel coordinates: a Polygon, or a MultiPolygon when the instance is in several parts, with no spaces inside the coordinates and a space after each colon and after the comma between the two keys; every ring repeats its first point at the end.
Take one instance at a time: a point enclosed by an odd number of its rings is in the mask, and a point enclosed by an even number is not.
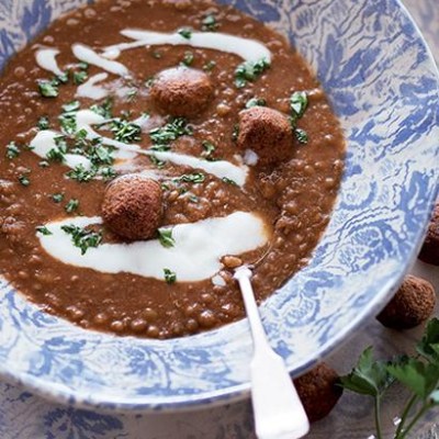
{"type": "Polygon", "coordinates": [[[234,269],[255,264],[261,301],[305,266],[342,173],[306,63],[210,1],[74,11],[9,63],[0,108],[1,272],[85,328],[243,318],[234,269]]]}

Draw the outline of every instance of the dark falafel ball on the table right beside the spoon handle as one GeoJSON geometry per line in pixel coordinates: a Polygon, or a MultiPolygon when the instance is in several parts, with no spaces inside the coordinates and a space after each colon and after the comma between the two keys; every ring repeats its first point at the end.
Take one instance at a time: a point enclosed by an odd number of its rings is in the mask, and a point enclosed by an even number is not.
{"type": "Polygon", "coordinates": [[[294,380],[295,389],[311,423],[328,416],[342,394],[337,385],[337,372],[320,363],[309,372],[294,380]]]}

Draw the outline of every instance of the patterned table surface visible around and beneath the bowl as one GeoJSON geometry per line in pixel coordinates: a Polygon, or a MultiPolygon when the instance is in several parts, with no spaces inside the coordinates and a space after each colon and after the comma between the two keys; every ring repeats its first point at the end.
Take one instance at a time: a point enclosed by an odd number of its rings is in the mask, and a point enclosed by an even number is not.
{"type": "MultiPolygon", "coordinates": [[[[438,0],[405,0],[434,54],[439,60],[438,0]]],[[[412,272],[432,282],[439,292],[439,267],[416,262],[412,272]]],[[[436,311],[439,315],[439,308],[436,311]]],[[[348,372],[360,352],[373,346],[376,354],[389,358],[414,345],[421,329],[396,333],[376,320],[347,342],[328,362],[348,372]]],[[[392,419],[401,412],[404,395],[395,391],[384,405],[385,437],[392,419]]],[[[432,414],[417,432],[418,439],[439,438],[432,414]]],[[[335,410],[312,426],[309,439],[368,439],[373,434],[372,405],[364,397],[345,392],[335,410]]],[[[252,439],[249,402],[178,415],[110,416],[47,403],[16,385],[0,383],[1,439],[252,439]],[[88,434],[85,435],[85,430],[88,434]],[[92,431],[92,436],[90,436],[92,431]]]]}

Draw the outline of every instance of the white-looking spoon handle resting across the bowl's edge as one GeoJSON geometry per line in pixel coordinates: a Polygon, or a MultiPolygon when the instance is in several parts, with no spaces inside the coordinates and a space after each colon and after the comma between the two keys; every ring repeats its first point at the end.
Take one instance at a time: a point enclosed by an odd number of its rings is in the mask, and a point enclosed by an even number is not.
{"type": "Polygon", "coordinates": [[[251,402],[258,439],[299,439],[309,431],[309,421],[282,357],[268,342],[248,266],[236,269],[234,278],[243,293],[254,339],[250,363],[251,402]]]}

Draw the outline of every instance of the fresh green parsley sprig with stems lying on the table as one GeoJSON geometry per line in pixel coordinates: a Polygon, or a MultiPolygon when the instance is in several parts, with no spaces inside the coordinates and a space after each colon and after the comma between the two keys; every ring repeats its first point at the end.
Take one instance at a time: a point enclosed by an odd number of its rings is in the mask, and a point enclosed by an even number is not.
{"type": "Polygon", "coordinates": [[[356,368],[340,379],[341,385],[354,393],[368,395],[375,402],[376,439],[383,439],[381,403],[386,391],[399,383],[410,392],[393,439],[406,439],[418,420],[432,407],[439,406],[439,319],[427,324],[423,339],[416,345],[418,354],[393,361],[376,361],[372,348],[360,356],[356,368]]]}

